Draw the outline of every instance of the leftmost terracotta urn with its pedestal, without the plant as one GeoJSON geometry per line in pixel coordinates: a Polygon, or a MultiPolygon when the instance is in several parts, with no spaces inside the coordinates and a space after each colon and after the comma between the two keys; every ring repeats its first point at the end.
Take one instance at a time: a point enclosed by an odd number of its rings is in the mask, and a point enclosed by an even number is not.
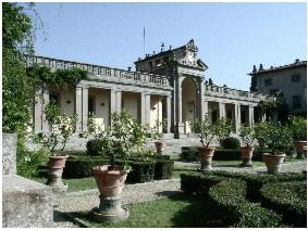
{"type": "Polygon", "coordinates": [[[66,156],[48,156],[47,174],[48,180],[47,186],[52,187],[52,192],[65,192],[67,184],[62,181],[63,168],[65,167],[66,156]]]}

